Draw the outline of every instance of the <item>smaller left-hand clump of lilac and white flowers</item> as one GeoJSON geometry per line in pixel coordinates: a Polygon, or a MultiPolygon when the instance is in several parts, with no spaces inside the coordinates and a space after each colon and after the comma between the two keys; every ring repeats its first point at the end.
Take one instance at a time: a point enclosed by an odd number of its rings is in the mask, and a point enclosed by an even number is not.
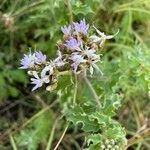
{"type": "MultiPolygon", "coordinates": [[[[41,51],[24,55],[21,59],[21,69],[27,69],[31,77],[31,84],[35,85],[32,91],[41,87],[44,83],[54,85],[56,83],[56,66],[58,61],[47,61],[46,55],[41,51]]],[[[49,89],[50,86],[47,86],[49,89]]]]}

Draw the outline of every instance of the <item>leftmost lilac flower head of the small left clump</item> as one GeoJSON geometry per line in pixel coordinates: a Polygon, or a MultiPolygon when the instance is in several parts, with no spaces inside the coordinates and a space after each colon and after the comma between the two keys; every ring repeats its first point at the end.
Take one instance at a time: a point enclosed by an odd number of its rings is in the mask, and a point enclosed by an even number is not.
{"type": "Polygon", "coordinates": [[[32,68],[35,65],[35,54],[24,54],[24,57],[21,59],[21,69],[28,69],[28,68],[32,68]]]}

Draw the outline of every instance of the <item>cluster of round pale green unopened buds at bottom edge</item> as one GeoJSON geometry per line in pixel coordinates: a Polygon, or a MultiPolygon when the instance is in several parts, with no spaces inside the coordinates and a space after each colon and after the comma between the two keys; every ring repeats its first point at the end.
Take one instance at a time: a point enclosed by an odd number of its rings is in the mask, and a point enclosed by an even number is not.
{"type": "Polygon", "coordinates": [[[119,146],[116,144],[116,142],[113,139],[107,139],[102,145],[102,150],[119,150],[119,146]]]}

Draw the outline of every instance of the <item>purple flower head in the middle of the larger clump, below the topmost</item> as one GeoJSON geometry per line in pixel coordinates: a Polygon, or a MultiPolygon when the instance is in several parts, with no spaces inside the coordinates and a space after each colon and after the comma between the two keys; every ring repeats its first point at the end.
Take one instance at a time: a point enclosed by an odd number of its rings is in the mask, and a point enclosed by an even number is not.
{"type": "Polygon", "coordinates": [[[78,42],[75,38],[71,37],[69,40],[66,41],[66,47],[71,50],[78,50],[80,51],[80,45],[81,43],[78,42]]]}

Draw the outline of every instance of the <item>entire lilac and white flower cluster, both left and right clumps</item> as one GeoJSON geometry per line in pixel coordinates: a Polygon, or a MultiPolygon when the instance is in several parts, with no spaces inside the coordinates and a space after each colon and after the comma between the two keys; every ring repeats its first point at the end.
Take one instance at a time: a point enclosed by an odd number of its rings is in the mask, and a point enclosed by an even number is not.
{"type": "Polygon", "coordinates": [[[69,26],[61,27],[64,34],[63,39],[57,43],[56,59],[47,60],[42,52],[24,55],[21,59],[21,69],[27,69],[32,76],[32,90],[36,90],[43,84],[47,84],[47,89],[57,83],[57,73],[59,71],[72,70],[73,73],[80,73],[83,68],[93,74],[94,69],[99,70],[96,65],[100,61],[98,50],[105,40],[113,38],[115,35],[106,36],[97,28],[96,35],[89,35],[89,24],[85,20],[74,22],[69,26]]]}

